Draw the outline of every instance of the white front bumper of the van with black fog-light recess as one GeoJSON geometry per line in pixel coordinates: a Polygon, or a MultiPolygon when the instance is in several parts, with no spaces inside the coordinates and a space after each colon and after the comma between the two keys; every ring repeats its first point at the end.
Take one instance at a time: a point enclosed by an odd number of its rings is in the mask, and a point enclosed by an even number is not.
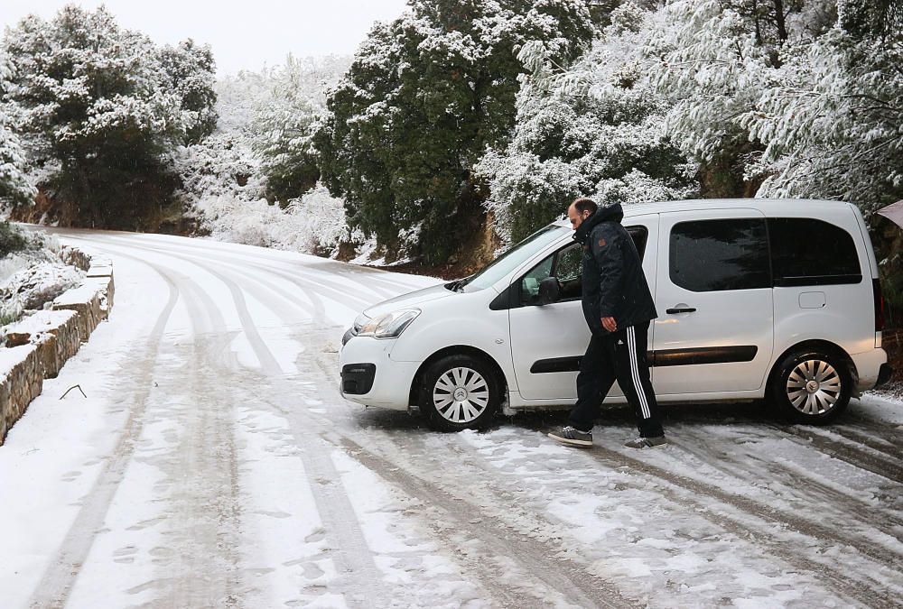
{"type": "Polygon", "coordinates": [[[406,411],[416,362],[396,362],[392,348],[396,339],[349,337],[339,352],[343,398],[365,406],[406,411]]]}

